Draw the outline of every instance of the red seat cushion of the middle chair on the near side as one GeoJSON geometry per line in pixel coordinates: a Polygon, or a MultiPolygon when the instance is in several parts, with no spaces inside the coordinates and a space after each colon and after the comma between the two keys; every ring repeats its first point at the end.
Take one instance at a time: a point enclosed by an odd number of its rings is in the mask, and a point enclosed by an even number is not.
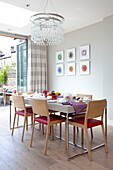
{"type": "MultiPolygon", "coordinates": [[[[58,121],[58,120],[65,120],[65,118],[62,116],[58,116],[58,115],[50,115],[50,122],[54,122],[54,121],[58,121]]],[[[46,116],[35,117],[34,121],[47,125],[47,117],[46,116]]]]}

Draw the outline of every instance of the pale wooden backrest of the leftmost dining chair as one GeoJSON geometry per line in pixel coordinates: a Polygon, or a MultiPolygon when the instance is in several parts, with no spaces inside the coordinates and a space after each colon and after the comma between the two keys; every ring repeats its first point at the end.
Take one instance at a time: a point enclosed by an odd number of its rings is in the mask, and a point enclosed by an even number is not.
{"type": "Polygon", "coordinates": [[[12,98],[15,108],[26,110],[23,96],[12,96],[12,98]]]}

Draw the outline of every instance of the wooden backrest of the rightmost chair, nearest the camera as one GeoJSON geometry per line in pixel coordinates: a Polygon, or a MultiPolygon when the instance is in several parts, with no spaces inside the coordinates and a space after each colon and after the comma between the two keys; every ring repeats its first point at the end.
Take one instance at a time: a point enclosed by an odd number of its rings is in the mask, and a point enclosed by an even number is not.
{"type": "Polygon", "coordinates": [[[106,105],[106,99],[89,101],[86,109],[86,119],[103,116],[106,105]]]}

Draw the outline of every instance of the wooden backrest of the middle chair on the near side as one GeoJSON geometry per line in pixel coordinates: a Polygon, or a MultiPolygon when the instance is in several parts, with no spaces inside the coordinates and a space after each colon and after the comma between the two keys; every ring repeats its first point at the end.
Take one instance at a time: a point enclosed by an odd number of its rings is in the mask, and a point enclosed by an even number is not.
{"type": "Polygon", "coordinates": [[[41,115],[41,116],[49,116],[47,100],[42,99],[32,99],[31,105],[33,109],[33,113],[41,115]]]}

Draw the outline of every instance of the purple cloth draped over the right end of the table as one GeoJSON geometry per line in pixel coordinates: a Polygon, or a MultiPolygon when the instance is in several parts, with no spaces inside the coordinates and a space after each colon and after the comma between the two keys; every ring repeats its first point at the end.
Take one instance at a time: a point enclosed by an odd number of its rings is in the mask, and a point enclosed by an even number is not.
{"type": "Polygon", "coordinates": [[[63,105],[71,105],[73,106],[76,114],[80,113],[82,110],[84,110],[87,107],[87,104],[85,103],[78,103],[78,102],[74,102],[74,101],[67,101],[67,102],[63,102],[63,105]]]}

